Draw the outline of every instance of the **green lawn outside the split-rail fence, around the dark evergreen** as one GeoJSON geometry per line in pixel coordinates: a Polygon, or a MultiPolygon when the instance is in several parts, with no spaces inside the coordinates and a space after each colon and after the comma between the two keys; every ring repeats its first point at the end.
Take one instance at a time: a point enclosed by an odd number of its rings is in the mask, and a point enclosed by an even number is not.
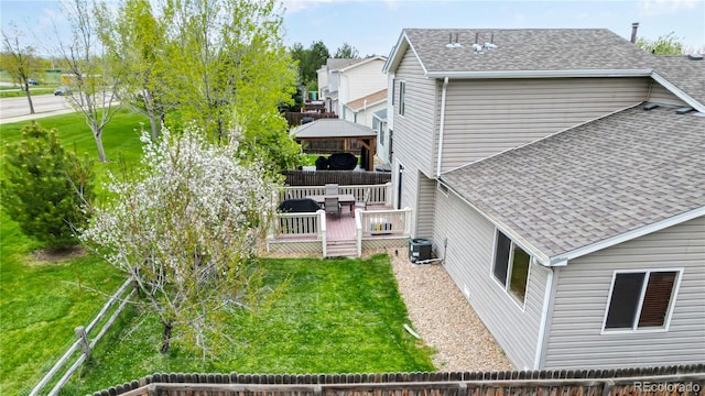
{"type": "MultiPolygon", "coordinates": [[[[134,129],[143,118],[122,111],[106,128],[104,144],[110,158],[137,163],[141,142],[134,129]]],[[[62,144],[97,157],[93,135],[79,114],[39,119],[56,128],[62,144]]],[[[0,125],[0,154],[4,143],[18,141],[26,122],[0,125]]],[[[118,164],[96,162],[99,179],[118,164]]],[[[112,294],[123,282],[105,262],[85,256],[61,263],[36,260],[41,246],[22,234],[18,224],[0,210],[0,395],[31,389],[73,343],[74,328],[86,326],[107,300],[84,286],[112,294]],[[79,286],[83,285],[83,286],[79,286]]]]}

